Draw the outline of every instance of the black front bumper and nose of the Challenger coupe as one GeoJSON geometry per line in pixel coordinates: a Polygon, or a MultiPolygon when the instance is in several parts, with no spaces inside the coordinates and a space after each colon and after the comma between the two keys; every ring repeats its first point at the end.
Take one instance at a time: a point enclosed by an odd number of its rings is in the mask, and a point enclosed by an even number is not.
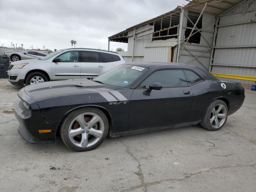
{"type": "Polygon", "coordinates": [[[16,119],[20,123],[20,127],[18,128],[20,136],[29,143],[54,142],[59,124],[47,123],[37,103],[23,89],[18,93],[18,96],[20,98],[14,102],[13,111],[16,119]],[[24,101],[30,105],[30,110],[24,106],[24,101]],[[51,132],[39,133],[38,130],[51,130],[51,132]]]}

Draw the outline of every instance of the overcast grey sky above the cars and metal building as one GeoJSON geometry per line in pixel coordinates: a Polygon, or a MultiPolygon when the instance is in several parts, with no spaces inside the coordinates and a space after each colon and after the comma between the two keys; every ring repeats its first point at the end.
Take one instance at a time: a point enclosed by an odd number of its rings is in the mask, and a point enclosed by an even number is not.
{"type": "MultiPolygon", "coordinates": [[[[108,49],[108,36],[187,4],[185,0],[0,0],[0,46],[108,49]]],[[[110,50],[126,43],[110,42],[110,50]]]]}

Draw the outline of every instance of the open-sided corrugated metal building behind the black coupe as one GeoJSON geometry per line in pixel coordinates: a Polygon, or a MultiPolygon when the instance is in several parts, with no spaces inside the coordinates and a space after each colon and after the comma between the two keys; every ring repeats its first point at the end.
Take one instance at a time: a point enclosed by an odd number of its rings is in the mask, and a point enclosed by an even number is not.
{"type": "Polygon", "coordinates": [[[128,51],[120,52],[126,62],[179,62],[252,84],[256,0],[192,0],[110,36],[109,46],[111,41],[128,43],[128,51]]]}

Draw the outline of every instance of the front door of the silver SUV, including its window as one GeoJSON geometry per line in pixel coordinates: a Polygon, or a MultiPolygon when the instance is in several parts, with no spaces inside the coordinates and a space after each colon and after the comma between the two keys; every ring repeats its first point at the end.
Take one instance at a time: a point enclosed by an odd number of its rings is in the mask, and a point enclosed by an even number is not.
{"type": "Polygon", "coordinates": [[[81,77],[79,51],[68,51],[56,58],[60,62],[52,62],[52,80],[66,80],[81,77]]]}

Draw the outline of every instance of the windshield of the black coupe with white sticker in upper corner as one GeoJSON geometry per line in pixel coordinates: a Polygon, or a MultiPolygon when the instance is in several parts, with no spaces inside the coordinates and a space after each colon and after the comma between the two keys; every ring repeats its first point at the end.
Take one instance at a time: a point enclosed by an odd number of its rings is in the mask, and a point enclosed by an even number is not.
{"type": "Polygon", "coordinates": [[[132,84],[147,70],[148,68],[134,65],[119,65],[107,71],[106,73],[94,78],[93,81],[112,86],[126,87],[132,84]]]}

